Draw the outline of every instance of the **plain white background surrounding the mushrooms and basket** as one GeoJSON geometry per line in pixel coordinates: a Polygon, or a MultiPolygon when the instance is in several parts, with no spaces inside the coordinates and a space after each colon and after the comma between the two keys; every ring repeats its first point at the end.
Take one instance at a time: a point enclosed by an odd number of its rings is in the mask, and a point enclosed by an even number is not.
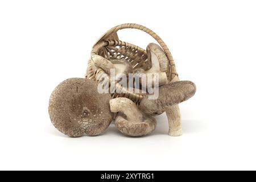
{"type": "MultiPolygon", "coordinates": [[[[256,169],[255,9],[255,1],[1,1],[0,169],[256,169]],[[180,79],[197,85],[180,104],[182,137],[167,135],[166,114],[141,138],[113,125],[69,138],[52,126],[52,90],[84,77],[94,42],[121,23],[160,35],[180,79]]],[[[118,33],[143,48],[154,42],[118,33]]]]}

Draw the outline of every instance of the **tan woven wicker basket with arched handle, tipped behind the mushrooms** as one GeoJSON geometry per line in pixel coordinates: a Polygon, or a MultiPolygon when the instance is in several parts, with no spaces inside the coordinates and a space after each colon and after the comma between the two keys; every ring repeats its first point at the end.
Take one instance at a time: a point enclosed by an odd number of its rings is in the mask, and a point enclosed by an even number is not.
{"type": "MultiPolygon", "coordinates": [[[[155,32],[151,31],[149,28],[141,26],[139,24],[134,23],[126,23],[121,24],[116,27],[111,28],[107,31],[101,38],[94,44],[91,52],[91,56],[100,55],[110,61],[116,59],[125,59],[133,65],[134,69],[143,68],[144,70],[151,68],[150,61],[147,60],[147,53],[144,49],[134,46],[133,44],[122,42],[118,39],[117,31],[125,28],[135,28],[138,30],[142,30],[147,34],[151,35],[163,48],[164,53],[166,53],[169,69],[167,72],[168,81],[172,81],[175,77],[177,78],[177,72],[175,69],[174,59],[172,58],[171,52],[167,48],[166,44],[163,40],[155,34],[155,32]]],[[[88,68],[86,71],[86,78],[94,81],[102,80],[101,75],[104,75],[104,70],[93,65],[91,59],[88,62],[88,68]]],[[[109,78],[110,80],[110,78],[109,78]]],[[[112,81],[112,80],[110,80],[112,81]]],[[[122,89],[122,86],[118,84],[118,82],[114,82],[115,90],[122,89]]],[[[111,96],[113,98],[117,97],[126,97],[130,100],[134,101],[136,104],[144,97],[142,93],[132,93],[126,90],[126,93],[112,93],[111,96]]]]}

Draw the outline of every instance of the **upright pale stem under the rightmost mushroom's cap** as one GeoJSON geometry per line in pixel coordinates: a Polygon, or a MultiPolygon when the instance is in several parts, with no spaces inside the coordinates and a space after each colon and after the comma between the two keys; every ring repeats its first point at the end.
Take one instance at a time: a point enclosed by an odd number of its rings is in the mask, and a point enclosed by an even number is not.
{"type": "Polygon", "coordinates": [[[168,134],[172,137],[178,137],[182,135],[179,105],[168,107],[166,109],[166,115],[169,123],[168,134]]]}

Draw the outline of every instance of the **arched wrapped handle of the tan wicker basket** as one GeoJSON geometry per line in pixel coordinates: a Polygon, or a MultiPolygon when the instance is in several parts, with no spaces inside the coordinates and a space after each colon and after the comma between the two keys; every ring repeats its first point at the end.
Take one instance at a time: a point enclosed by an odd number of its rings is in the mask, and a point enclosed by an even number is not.
{"type": "MultiPolygon", "coordinates": [[[[111,28],[109,31],[107,31],[104,35],[102,35],[101,38],[96,42],[96,44],[98,42],[100,42],[101,40],[107,40],[109,38],[117,38],[118,39],[117,31],[125,29],[125,28],[135,28],[138,30],[142,30],[142,31],[146,32],[147,34],[151,35],[152,38],[154,38],[156,40],[156,42],[158,42],[160,44],[160,46],[163,48],[163,51],[166,54],[168,61],[170,62],[170,64],[169,64],[170,69],[171,69],[171,72],[169,73],[170,80],[172,80],[175,76],[177,76],[174,59],[171,55],[170,50],[166,46],[166,43],[164,43],[163,40],[155,32],[153,32],[149,28],[144,27],[140,24],[125,23],[125,24],[120,24],[118,26],[115,26],[115,27],[111,28]]],[[[96,44],[94,44],[94,46],[96,46],[96,44]]]]}

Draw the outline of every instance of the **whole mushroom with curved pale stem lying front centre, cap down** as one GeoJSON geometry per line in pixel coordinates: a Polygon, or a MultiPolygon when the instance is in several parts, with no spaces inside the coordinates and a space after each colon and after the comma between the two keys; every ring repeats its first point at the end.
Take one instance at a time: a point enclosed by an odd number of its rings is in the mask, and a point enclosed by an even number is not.
{"type": "Polygon", "coordinates": [[[110,100],[110,110],[118,115],[115,118],[115,126],[125,135],[138,137],[147,135],[155,130],[154,118],[142,113],[137,105],[125,97],[110,100]]]}

